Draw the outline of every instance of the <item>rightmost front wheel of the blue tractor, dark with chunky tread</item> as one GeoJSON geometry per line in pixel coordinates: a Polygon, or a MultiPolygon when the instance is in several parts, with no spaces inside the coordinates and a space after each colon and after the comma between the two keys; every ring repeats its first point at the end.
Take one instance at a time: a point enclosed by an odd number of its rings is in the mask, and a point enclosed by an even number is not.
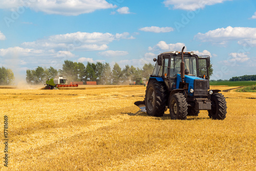
{"type": "Polygon", "coordinates": [[[223,120],[226,118],[227,102],[225,97],[220,93],[214,93],[210,96],[211,110],[208,115],[212,119],[223,120]]]}

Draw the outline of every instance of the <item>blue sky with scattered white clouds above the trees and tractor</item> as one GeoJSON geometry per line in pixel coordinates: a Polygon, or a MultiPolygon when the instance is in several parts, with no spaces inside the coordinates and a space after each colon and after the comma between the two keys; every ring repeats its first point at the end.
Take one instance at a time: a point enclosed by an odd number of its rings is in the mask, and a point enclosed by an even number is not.
{"type": "Polygon", "coordinates": [[[142,68],[167,51],[209,55],[211,79],[256,74],[255,0],[0,0],[0,67],[15,78],[65,60],[142,68]]]}

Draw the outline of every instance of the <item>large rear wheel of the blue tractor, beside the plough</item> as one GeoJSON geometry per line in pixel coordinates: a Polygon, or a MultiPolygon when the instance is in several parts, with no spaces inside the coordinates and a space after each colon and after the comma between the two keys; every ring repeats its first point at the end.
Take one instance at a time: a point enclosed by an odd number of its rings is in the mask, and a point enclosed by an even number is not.
{"type": "Polygon", "coordinates": [[[146,113],[150,116],[161,117],[164,114],[167,92],[163,82],[151,80],[148,82],[145,94],[146,113]]]}

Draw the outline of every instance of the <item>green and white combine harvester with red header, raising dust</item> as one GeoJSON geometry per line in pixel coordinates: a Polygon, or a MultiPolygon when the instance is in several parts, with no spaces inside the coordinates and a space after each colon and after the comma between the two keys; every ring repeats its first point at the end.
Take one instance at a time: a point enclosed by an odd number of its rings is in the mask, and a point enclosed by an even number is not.
{"type": "Polygon", "coordinates": [[[63,79],[60,75],[58,79],[51,78],[46,81],[46,88],[49,90],[58,89],[59,87],[78,87],[78,84],[66,84],[67,79],[63,79]]]}

